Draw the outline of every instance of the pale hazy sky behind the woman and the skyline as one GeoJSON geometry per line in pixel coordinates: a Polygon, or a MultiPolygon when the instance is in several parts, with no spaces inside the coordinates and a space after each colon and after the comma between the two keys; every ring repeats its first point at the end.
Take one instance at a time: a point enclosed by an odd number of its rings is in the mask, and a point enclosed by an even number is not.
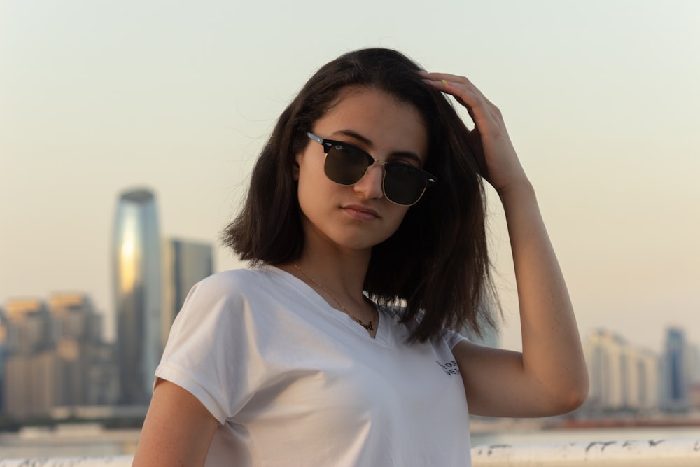
{"type": "MultiPolygon", "coordinates": [[[[283,107],[365,46],[468,76],[500,107],[582,333],[658,350],[678,325],[700,343],[694,0],[0,0],[0,305],[85,291],[111,313],[128,188],[155,191],[164,235],[216,242],[283,107]]],[[[503,342],[519,348],[489,194],[503,342]]],[[[238,264],[217,249],[217,270],[238,264]]]]}

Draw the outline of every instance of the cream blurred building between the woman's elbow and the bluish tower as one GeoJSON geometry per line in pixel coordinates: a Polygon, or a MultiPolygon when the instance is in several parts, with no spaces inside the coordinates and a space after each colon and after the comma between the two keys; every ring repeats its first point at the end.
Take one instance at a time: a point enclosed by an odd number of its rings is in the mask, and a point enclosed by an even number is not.
{"type": "Polygon", "coordinates": [[[590,390],[587,407],[601,410],[646,410],[659,406],[659,358],[631,346],[621,336],[595,330],[584,351],[590,390]]]}

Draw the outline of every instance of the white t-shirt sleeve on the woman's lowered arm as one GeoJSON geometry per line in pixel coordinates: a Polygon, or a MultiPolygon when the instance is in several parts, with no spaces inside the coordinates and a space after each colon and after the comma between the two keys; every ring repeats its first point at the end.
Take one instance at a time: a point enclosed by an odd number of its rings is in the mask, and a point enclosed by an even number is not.
{"type": "Polygon", "coordinates": [[[245,405],[262,375],[251,363],[248,303],[235,285],[213,276],[192,288],[155,370],[157,378],[192,393],[222,424],[245,405]]]}

